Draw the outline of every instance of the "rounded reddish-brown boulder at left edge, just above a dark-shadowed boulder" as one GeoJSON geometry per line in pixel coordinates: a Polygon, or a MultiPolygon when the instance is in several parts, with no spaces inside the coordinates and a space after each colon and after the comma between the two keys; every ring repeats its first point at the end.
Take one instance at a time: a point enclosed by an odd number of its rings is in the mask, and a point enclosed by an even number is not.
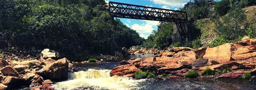
{"type": "Polygon", "coordinates": [[[11,66],[6,66],[6,67],[3,67],[1,69],[1,72],[5,75],[5,76],[15,76],[15,77],[18,77],[19,74],[17,72],[17,70],[15,70],[13,67],[11,66]]]}

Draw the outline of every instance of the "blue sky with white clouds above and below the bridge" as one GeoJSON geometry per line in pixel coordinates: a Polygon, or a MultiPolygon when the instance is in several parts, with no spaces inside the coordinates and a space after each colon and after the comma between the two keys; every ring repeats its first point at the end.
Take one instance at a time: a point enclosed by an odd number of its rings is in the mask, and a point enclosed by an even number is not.
{"type": "MultiPolygon", "coordinates": [[[[189,0],[105,0],[108,1],[127,3],[127,4],[136,4],[142,6],[158,7],[172,10],[179,10],[179,8],[184,7],[189,0]]],[[[119,18],[123,24],[129,28],[136,30],[140,37],[148,38],[148,35],[152,30],[157,30],[157,25],[159,21],[149,21],[149,20],[137,20],[137,19],[123,19],[119,18]]]]}

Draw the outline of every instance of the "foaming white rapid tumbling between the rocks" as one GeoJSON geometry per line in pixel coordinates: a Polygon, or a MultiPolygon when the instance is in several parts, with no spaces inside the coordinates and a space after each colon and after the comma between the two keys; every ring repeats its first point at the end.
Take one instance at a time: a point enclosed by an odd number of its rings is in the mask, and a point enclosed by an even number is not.
{"type": "Polygon", "coordinates": [[[123,76],[110,77],[110,71],[89,69],[87,71],[69,73],[69,79],[67,81],[58,82],[53,87],[56,90],[76,90],[83,87],[90,87],[92,89],[135,90],[141,88],[137,86],[139,82],[145,81],[145,79],[134,80],[123,76]]]}

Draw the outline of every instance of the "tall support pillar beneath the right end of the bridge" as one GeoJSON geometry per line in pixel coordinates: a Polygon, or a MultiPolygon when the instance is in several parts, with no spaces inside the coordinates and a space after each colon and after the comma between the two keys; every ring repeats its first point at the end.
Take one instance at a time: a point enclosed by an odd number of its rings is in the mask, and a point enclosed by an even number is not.
{"type": "Polygon", "coordinates": [[[173,24],[173,40],[172,43],[175,44],[180,42],[180,45],[184,45],[186,38],[189,39],[188,35],[188,22],[176,22],[173,24]]]}

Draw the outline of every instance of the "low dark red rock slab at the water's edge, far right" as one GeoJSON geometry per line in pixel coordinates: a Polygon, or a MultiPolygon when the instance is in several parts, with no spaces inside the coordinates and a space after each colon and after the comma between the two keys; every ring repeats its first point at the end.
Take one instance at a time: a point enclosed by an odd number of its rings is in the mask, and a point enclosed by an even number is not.
{"type": "Polygon", "coordinates": [[[230,73],[224,73],[218,76],[218,79],[239,79],[242,75],[244,75],[246,71],[235,71],[230,73]]]}

